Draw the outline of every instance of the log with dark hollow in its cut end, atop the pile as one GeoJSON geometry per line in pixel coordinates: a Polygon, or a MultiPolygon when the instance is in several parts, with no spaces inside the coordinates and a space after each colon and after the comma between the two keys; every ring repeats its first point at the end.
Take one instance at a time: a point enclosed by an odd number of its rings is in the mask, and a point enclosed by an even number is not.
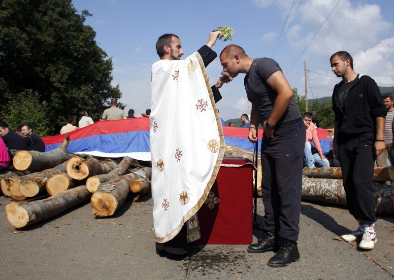
{"type": "Polygon", "coordinates": [[[66,166],[67,174],[76,180],[106,174],[117,167],[112,160],[99,161],[95,158],[83,159],[79,156],[72,157],[66,166]]]}

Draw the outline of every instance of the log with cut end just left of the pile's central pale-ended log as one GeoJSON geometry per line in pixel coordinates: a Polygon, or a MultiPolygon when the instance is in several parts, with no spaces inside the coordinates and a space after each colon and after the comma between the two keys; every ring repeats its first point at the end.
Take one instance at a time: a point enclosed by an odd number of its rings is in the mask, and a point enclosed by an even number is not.
{"type": "Polygon", "coordinates": [[[30,176],[29,178],[22,180],[19,185],[19,190],[26,197],[36,196],[46,190],[46,182],[50,176],[66,172],[66,165],[67,162],[64,162],[54,168],[46,169],[37,175],[30,176]]]}

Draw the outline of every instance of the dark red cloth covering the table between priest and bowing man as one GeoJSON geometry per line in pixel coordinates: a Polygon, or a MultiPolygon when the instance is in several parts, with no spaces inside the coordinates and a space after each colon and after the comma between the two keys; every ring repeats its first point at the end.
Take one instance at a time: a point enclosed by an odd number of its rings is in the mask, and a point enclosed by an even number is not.
{"type": "Polygon", "coordinates": [[[223,159],[208,198],[198,210],[198,244],[252,243],[253,170],[248,159],[223,159]]]}

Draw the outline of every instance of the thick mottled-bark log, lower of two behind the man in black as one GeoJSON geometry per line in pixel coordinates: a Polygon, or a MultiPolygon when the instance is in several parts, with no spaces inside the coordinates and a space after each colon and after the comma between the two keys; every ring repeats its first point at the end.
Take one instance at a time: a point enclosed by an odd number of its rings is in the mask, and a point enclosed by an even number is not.
{"type": "MultiPolygon", "coordinates": [[[[375,212],[394,214],[394,187],[372,182],[375,188],[375,212]]],[[[302,178],[302,200],[347,206],[346,193],[340,179],[302,178]]]]}

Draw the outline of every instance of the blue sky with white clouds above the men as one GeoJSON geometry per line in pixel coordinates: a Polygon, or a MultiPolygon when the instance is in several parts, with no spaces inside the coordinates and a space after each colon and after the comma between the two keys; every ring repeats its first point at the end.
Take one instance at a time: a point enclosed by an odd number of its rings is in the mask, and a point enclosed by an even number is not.
{"type": "MultiPolygon", "coordinates": [[[[79,13],[87,9],[93,14],[86,24],[93,27],[99,46],[113,58],[113,84],[119,84],[120,101],[127,105],[126,111],[133,108],[135,116],[150,106],[151,66],[159,60],[157,38],[164,33],[178,35],[186,56],[205,44],[212,30],[224,25],[233,28],[233,40],[218,41],[213,50],[219,54],[226,45],[234,43],[252,58],[274,58],[300,95],[305,93],[306,60],[310,70],[308,99],[330,96],[334,84],[340,81],[329,67],[330,55],[338,50],[353,56],[356,72],[373,77],[381,86],[394,85],[393,0],[337,3],[338,0],[72,0],[79,13]]],[[[207,68],[211,84],[221,71],[217,58],[207,68]]],[[[221,89],[223,99],[217,106],[225,120],[250,113],[243,77],[239,74],[221,89]]]]}

